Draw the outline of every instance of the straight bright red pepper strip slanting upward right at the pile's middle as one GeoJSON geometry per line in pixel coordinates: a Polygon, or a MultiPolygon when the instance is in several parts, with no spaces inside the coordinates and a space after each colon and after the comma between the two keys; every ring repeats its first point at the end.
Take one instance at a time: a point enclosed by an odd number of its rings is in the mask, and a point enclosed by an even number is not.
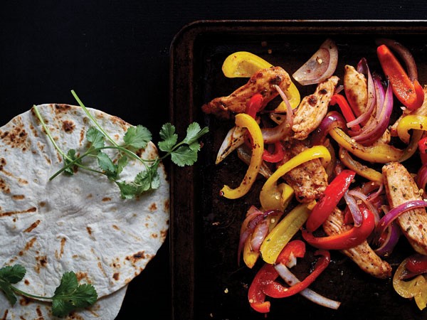
{"type": "Polygon", "coordinates": [[[334,210],[349,188],[355,175],[356,173],[354,171],[344,169],[332,180],[330,185],[326,187],[322,198],[317,201],[315,207],[308,216],[305,228],[307,228],[310,233],[319,228],[327,217],[329,217],[332,210],[334,210]]]}

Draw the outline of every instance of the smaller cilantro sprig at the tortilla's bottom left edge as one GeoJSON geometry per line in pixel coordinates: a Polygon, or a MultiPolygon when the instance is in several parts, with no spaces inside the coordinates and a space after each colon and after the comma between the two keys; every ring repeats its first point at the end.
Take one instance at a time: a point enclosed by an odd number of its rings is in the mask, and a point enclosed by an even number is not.
{"type": "Polygon", "coordinates": [[[92,284],[78,284],[74,272],[65,272],[60,279],[53,297],[41,297],[35,294],[23,292],[12,284],[20,282],[25,277],[26,269],[22,265],[12,265],[0,269],[0,290],[12,306],[16,304],[16,294],[39,301],[50,301],[54,316],[66,316],[76,309],[87,308],[95,304],[97,292],[92,284]]]}

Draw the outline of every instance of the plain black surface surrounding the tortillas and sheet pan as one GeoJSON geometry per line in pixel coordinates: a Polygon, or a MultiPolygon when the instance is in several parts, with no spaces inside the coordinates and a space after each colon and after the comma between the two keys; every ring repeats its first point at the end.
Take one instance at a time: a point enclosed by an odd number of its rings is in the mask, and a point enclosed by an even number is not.
{"type": "MultiPolygon", "coordinates": [[[[427,19],[418,1],[1,1],[0,126],[42,103],[144,124],[169,120],[169,46],[204,19],[427,19]]],[[[426,39],[423,39],[426,41],[426,39]]],[[[1,236],[1,235],[0,235],[1,236]]],[[[130,284],[117,319],[169,319],[169,238],[130,284]]]]}

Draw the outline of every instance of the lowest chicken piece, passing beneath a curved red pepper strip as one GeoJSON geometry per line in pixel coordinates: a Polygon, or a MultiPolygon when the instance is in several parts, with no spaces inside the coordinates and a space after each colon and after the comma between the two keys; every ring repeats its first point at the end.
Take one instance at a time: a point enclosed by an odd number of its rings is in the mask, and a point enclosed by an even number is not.
{"type": "MultiPolygon", "coordinates": [[[[325,223],[323,223],[323,229],[327,235],[339,235],[339,233],[343,233],[351,228],[354,227],[344,224],[344,213],[338,208],[335,208],[325,223]]],[[[376,255],[366,240],[356,247],[341,250],[341,252],[353,260],[364,272],[379,279],[391,277],[391,266],[389,263],[376,255]]]]}

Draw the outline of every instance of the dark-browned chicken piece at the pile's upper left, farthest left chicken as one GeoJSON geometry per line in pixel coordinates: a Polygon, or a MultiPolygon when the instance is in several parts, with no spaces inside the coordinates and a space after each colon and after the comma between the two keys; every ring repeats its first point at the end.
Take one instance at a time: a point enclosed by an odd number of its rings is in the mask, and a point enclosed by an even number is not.
{"type": "Polygon", "coordinates": [[[290,86],[288,73],[280,67],[271,67],[259,70],[251,79],[227,97],[217,97],[201,107],[206,114],[215,114],[217,117],[230,118],[233,114],[245,112],[246,102],[255,94],[263,95],[263,107],[278,96],[278,85],[283,91],[290,86]]]}

